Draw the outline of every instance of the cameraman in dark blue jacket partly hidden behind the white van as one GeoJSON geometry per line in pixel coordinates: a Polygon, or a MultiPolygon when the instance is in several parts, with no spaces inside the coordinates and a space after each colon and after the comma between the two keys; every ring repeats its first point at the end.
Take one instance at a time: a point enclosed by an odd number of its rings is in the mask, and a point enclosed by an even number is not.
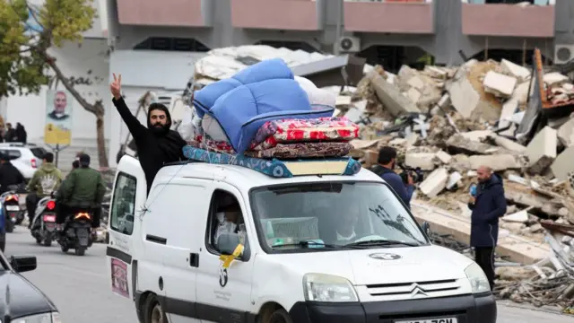
{"type": "Polygon", "coordinates": [[[413,178],[408,175],[408,183],[395,172],[396,167],[396,149],[393,147],[383,147],[378,151],[378,165],[373,167],[373,172],[385,179],[388,185],[393,188],[396,194],[401,197],[404,204],[411,208],[411,197],[413,197],[414,185],[413,178]]]}

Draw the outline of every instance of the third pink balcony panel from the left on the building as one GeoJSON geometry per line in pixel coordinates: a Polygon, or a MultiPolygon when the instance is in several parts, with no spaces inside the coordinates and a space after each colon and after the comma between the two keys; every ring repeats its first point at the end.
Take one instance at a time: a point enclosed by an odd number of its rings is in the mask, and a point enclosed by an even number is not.
{"type": "Polygon", "coordinates": [[[345,0],[344,29],[401,34],[434,33],[432,2],[428,0],[345,0]]]}

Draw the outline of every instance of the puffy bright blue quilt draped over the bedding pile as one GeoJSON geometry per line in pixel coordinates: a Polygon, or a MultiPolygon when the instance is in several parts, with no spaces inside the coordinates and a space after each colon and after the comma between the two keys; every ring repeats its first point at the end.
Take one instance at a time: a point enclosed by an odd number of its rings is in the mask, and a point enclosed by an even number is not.
{"type": "Polygon", "coordinates": [[[333,107],[311,106],[282,59],[251,65],[229,79],[211,83],[194,95],[197,114],[208,113],[227,135],[233,149],[243,154],[259,127],[280,118],[333,116],[333,107]]]}

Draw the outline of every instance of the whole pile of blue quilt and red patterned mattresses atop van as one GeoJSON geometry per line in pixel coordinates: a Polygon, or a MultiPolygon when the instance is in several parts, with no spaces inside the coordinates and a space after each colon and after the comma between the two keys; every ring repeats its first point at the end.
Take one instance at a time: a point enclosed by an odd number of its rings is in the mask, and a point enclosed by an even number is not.
{"type": "Polygon", "coordinates": [[[332,117],[335,99],[283,60],[266,60],[195,93],[189,144],[262,159],[341,157],[359,127],[332,117]]]}

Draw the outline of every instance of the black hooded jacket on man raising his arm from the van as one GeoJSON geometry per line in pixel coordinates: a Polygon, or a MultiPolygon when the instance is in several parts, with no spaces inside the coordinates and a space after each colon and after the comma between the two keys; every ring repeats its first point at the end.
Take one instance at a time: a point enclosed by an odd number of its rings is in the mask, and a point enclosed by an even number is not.
{"type": "Polygon", "coordinates": [[[161,129],[152,129],[150,125],[149,114],[147,116],[148,127],[143,127],[132,112],[127,108],[124,99],[112,99],[117,108],[117,112],[126,123],[127,129],[134,137],[137,146],[137,155],[145,173],[147,182],[147,191],[152,188],[155,174],[167,162],[178,162],[184,160],[183,147],[186,141],[181,138],[177,131],[170,130],[171,116],[168,109],[162,109],[168,118],[164,131],[155,131],[161,129]]]}

